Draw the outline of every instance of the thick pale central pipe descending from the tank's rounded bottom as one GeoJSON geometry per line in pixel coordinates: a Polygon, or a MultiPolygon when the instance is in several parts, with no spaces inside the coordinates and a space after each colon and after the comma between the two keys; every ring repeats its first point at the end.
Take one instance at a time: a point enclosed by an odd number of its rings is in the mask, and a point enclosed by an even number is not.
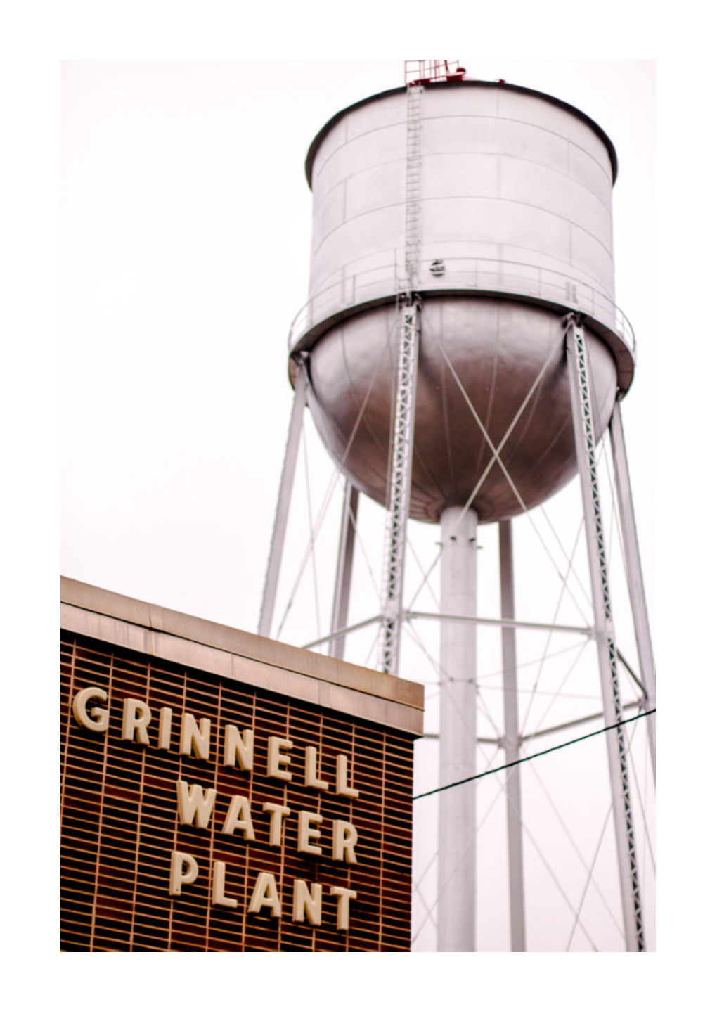
{"type": "MultiPolygon", "coordinates": [[[[478,515],[441,514],[441,614],[477,615],[478,515]]],[[[440,635],[439,785],[476,774],[476,625],[443,619],[440,635]]],[[[438,803],[438,950],[476,950],[476,784],[438,803]]]]}

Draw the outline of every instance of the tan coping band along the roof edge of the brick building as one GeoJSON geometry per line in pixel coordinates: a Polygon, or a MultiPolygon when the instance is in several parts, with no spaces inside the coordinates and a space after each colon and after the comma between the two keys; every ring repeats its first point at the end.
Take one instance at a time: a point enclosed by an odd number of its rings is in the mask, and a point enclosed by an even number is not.
{"type": "Polygon", "coordinates": [[[61,578],[61,625],[180,665],[420,736],[420,683],[61,578]]]}

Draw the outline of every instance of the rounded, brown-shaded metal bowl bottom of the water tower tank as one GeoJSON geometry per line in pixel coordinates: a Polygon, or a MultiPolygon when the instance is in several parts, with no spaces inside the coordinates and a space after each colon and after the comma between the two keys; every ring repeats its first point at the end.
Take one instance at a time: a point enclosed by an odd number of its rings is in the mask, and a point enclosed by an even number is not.
{"type": "MultiPolygon", "coordinates": [[[[412,518],[437,522],[446,507],[469,504],[481,523],[505,520],[575,475],[563,319],[509,299],[424,299],[412,518]]],[[[353,485],[383,505],[400,321],[396,304],[347,317],[316,342],[309,365],[308,404],[324,443],[353,485]]],[[[586,337],[599,437],[617,369],[605,345],[586,337]]]]}

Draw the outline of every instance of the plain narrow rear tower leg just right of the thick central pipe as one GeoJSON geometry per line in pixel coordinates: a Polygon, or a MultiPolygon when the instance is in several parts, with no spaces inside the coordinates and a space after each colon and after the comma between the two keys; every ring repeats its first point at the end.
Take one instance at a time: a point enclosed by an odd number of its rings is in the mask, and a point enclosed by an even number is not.
{"type": "MultiPolygon", "coordinates": [[[[510,521],[498,525],[500,536],[500,603],[501,619],[515,620],[513,593],[513,535],[510,521]]],[[[518,728],[518,683],[516,672],[515,628],[505,626],[503,642],[503,714],[505,720],[505,763],[520,757],[518,728]]],[[[525,899],[523,889],[522,807],[520,799],[520,768],[506,772],[508,808],[508,883],[510,890],[510,949],[525,950],[525,899]]]]}

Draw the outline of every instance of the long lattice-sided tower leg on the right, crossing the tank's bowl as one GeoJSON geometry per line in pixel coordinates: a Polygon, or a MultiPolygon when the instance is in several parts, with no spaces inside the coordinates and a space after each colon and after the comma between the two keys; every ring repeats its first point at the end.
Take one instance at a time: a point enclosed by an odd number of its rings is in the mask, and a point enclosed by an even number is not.
{"type": "MultiPolygon", "coordinates": [[[[580,486],[582,489],[587,555],[590,566],[592,604],[595,617],[595,641],[600,670],[602,709],[605,726],[615,725],[623,719],[618,682],[618,655],[615,648],[613,610],[607,582],[600,510],[595,464],[595,434],[590,408],[589,368],[585,335],[575,315],[567,320],[566,344],[568,354],[568,374],[570,377],[570,400],[575,435],[580,486]]],[[[640,899],[640,885],[635,850],[633,812],[630,802],[628,778],[628,754],[623,727],[605,734],[607,740],[607,762],[611,789],[613,793],[613,816],[618,847],[618,872],[620,876],[625,943],[629,951],[644,951],[645,934],[640,899]]]]}

